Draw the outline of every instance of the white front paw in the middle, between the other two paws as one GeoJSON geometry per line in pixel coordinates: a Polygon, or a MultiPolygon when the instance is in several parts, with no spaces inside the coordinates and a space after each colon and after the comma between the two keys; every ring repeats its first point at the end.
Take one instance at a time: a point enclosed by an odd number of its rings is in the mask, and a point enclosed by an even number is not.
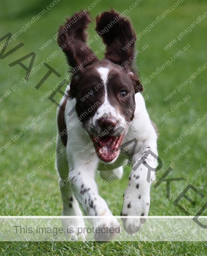
{"type": "Polygon", "coordinates": [[[121,228],[117,219],[99,219],[95,231],[94,239],[104,242],[116,237],[121,232],[121,228]]]}

